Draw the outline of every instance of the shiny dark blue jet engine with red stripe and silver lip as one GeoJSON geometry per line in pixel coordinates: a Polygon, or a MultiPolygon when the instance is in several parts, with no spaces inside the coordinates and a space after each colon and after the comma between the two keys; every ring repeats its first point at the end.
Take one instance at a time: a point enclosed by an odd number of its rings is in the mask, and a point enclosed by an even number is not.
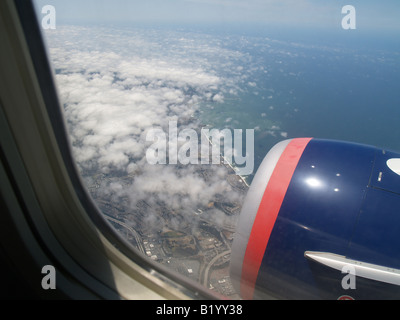
{"type": "Polygon", "coordinates": [[[319,139],[278,143],[232,246],[243,299],[400,298],[400,154],[319,139]]]}

